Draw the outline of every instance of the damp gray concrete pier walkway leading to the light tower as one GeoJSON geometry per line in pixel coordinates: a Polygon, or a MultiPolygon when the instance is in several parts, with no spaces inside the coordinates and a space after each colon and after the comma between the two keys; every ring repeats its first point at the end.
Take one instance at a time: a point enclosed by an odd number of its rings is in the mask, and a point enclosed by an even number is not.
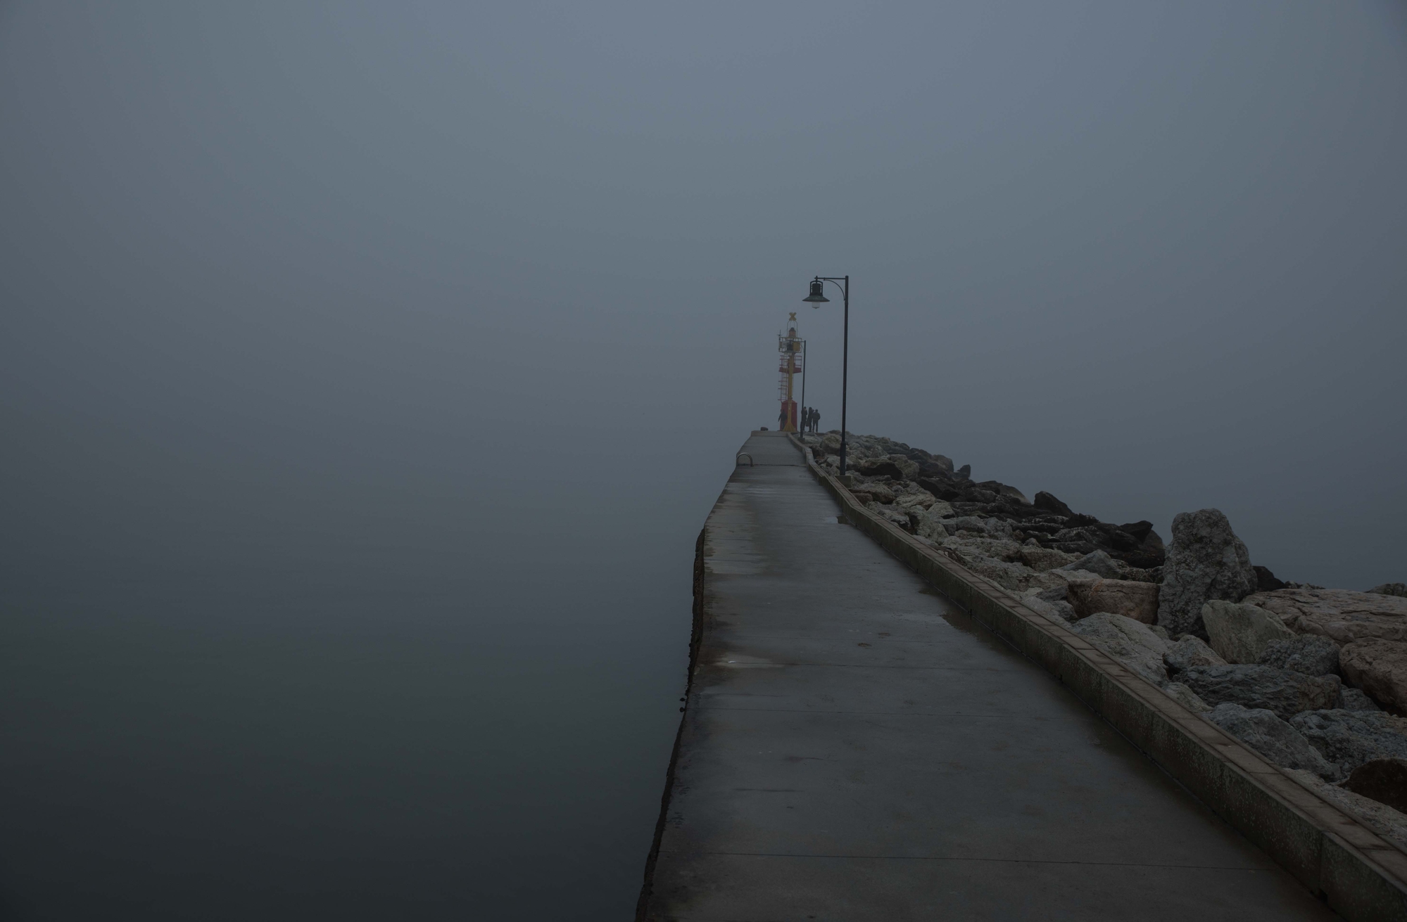
{"type": "Polygon", "coordinates": [[[781,433],[708,519],[642,919],[1331,919],[855,528],[781,433]]]}

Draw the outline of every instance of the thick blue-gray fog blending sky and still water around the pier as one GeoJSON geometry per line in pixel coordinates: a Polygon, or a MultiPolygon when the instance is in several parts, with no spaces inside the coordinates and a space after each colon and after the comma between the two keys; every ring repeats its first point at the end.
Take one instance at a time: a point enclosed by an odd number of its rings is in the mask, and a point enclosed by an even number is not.
{"type": "Polygon", "coordinates": [[[1407,579],[1400,3],[15,1],[0,138],[17,918],[625,918],[817,273],[853,431],[1407,579]]]}

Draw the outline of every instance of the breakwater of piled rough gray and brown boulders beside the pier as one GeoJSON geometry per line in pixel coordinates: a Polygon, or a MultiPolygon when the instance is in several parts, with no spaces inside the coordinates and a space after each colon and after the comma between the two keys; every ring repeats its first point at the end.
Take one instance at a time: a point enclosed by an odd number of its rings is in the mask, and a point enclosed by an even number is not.
{"type": "MultiPolygon", "coordinates": [[[[802,437],[839,468],[840,433],[802,437]]],[[[1407,849],[1407,585],[1283,582],[1216,509],[1113,524],[951,458],[850,436],[875,514],[1064,618],[1135,675],[1407,849]]]]}

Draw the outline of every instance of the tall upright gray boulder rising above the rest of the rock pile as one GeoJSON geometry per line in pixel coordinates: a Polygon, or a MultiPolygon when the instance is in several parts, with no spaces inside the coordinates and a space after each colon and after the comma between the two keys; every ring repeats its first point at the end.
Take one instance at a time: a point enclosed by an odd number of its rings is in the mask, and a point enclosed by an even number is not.
{"type": "Polygon", "coordinates": [[[1255,592],[1251,554],[1217,509],[1183,512],[1172,520],[1172,547],[1162,568],[1158,624],[1171,634],[1204,637],[1202,606],[1241,602],[1255,592]]]}

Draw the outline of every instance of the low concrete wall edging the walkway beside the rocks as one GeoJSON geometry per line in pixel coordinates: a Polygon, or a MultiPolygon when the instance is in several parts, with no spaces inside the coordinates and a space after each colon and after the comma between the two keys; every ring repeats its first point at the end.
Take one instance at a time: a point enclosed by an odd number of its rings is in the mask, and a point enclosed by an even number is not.
{"type": "Polygon", "coordinates": [[[1002,586],[861,506],[805,453],[846,520],[1041,663],[1168,774],[1354,922],[1407,922],[1407,855],[1092,647],[1065,621],[1027,609],[1002,586]]]}

